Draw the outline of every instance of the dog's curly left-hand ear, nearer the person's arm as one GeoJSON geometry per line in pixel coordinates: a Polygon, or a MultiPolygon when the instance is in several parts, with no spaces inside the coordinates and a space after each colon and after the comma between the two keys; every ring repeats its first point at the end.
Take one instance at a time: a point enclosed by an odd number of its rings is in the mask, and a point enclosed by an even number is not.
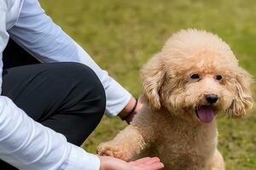
{"type": "Polygon", "coordinates": [[[154,108],[160,109],[160,87],[166,74],[160,54],[155,54],[140,71],[143,79],[143,99],[146,99],[154,108]]]}

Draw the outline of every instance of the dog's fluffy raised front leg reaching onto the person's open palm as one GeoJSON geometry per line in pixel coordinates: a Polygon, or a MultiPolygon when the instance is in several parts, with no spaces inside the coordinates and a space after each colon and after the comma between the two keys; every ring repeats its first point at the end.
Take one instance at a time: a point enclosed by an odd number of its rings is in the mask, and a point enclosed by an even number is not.
{"type": "Polygon", "coordinates": [[[143,138],[143,129],[129,125],[113,140],[100,144],[97,147],[97,153],[129,161],[132,157],[139,155],[147,145],[148,142],[143,138]]]}

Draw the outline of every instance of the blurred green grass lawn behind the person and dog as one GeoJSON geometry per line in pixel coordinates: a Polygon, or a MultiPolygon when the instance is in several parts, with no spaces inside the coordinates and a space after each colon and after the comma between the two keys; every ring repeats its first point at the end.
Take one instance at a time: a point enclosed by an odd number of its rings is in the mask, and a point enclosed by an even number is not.
{"type": "MultiPolygon", "coordinates": [[[[41,0],[43,8],[64,31],[108,70],[131,94],[138,96],[138,71],[173,32],[195,27],[217,33],[230,44],[240,64],[256,76],[255,0],[41,0]]],[[[256,86],[253,85],[253,94],[256,86]]],[[[255,109],[239,120],[218,121],[219,149],[228,170],[256,169],[255,109]]],[[[125,127],[104,117],[84,149],[125,127]]],[[[82,130],[82,129],[80,129],[82,130]]]]}

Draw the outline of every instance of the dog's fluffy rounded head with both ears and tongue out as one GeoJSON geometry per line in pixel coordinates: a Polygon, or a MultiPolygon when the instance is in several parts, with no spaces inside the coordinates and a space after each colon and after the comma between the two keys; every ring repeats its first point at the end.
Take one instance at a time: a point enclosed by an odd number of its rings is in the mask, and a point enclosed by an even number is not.
{"type": "Polygon", "coordinates": [[[230,47],[207,31],[177,32],[141,76],[149,105],[185,119],[212,122],[219,111],[240,117],[253,105],[251,76],[230,47]]]}

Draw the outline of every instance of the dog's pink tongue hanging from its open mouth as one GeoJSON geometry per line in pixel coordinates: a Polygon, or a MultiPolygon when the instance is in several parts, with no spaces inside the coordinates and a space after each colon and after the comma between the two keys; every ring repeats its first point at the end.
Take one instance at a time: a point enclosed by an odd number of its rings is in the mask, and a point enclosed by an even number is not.
{"type": "Polygon", "coordinates": [[[197,110],[197,115],[201,122],[212,122],[214,111],[212,110],[212,107],[203,105],[197,110]]]}

